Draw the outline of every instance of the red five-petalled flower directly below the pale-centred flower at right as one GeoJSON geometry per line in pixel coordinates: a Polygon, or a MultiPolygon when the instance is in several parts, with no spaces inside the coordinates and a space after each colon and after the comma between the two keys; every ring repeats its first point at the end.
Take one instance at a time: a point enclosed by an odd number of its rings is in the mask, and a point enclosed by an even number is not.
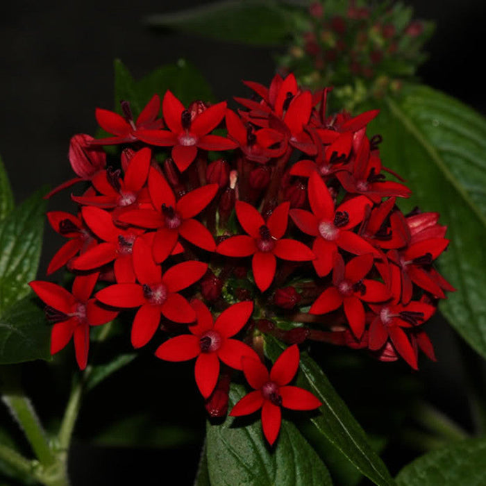
{"type": "Polygon", "coordinates": [[[364,302],[383,302],[389,299],[387,287],[377,280],[364,278],[373,267],[373,255],[353,258],[346,266],[339,253],[334,256],[333,286],[328,287],[312,304],[309,314],[326,314],[341,305],[351,330],[358,339],[364,331],[366,321],[364,302]]]}

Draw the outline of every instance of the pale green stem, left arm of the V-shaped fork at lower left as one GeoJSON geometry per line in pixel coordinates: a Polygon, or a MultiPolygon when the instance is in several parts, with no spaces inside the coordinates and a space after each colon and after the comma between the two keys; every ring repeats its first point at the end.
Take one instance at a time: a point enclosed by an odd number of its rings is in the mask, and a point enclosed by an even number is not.
{"type": "Polygon", "coordinates": [[[50,466],[56,462],[56,455],[51,451],[44,428],[40,424],[31,401],[20,394],[5,394],[3,401],[24,430],[24,434],[41,464],[50,466]]]}

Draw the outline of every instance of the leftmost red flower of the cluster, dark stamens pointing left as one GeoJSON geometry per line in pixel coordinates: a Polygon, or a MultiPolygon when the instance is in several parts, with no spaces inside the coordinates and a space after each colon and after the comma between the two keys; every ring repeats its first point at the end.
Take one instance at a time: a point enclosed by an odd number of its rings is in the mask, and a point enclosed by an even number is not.
{"type": "Polygon", "coordinates": [[[46,315],[55,323],[51,333],[51,354],[63,349],[74,335],[76,361],[80,369],[85,369],[87,364],[90,326],[106,324],[118,315],[118,312],[103,309],[95,299],[90,299],[98,275],[74,278],[72,294],[55,283],[36,280],[28,284],[47,304],[46,315]]]}

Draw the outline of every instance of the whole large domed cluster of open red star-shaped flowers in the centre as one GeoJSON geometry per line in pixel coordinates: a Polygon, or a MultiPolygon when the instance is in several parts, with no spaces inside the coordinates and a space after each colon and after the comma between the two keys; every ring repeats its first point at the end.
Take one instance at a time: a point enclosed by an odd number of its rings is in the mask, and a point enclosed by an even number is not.
{"type": "Polygon", "coordinates": [[[237,98],[237,111],[224,102],[185,108],[170,91],[162,117],[158,95],[136,119],[128,101],[121,115],[97,109],[112,136],[75,135],[77,177],[50,194],[84,182],[72,196],[78,210],[47,215],[67,239],[48,274],[67,267],[72,292],[31,287],[53,322],[51,352],[74,337],[81,369],[90,326],[136,309],[133,347],[163,340],[158,358],[195,358],[211,414],[226,413],[228,383],[243,371],[254,391],[231,414],[262,408],[273,444],[281,406],[320,405],[289,385],[296,344],[366,348],[417,369],[419,349],[434,359],[422,324],[453,289],[433,266],[448,244],[438,215],[396,206],[410,190],[387,180],[380,137],[367,135],[376,110],[327,115],[330,90],[303,90],[292,74],[245,84],[260,101],[237,98]],[[121,147],[118,160],[108,144],[121,147]],[[262,335],[292,345],[271,371],[262,335]]]}

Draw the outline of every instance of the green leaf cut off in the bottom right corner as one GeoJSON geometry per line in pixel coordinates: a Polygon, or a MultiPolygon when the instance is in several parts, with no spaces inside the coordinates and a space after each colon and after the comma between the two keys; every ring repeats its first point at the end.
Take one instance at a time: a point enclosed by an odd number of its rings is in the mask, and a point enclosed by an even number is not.
{"type": "Polygon", "coordinates": [[[467,439],[422,455],[396,476],[399,486],[486,484],[486,439],[467,439]]]}

